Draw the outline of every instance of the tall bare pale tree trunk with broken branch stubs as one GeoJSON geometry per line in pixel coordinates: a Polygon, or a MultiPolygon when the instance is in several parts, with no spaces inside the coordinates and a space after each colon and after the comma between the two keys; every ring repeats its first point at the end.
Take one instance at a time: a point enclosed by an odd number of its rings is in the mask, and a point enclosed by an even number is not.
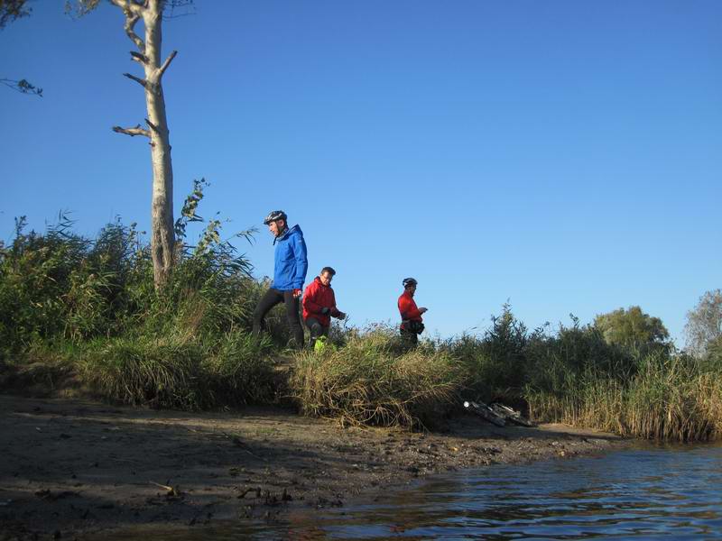
{"type": "Polygon", "coordinates": [[[153,255],[153,280],[155,289],[160,289],[168,280],[173,266],[175,234],[173,232],[173,168],[171,164],[171,141],[168,119],[165,115],[162,76],[176,51],[161,63],[162,12],[165,0],[111,0],[125,14],[125,33],[135,43],[138,51],[131,51],[131,57],[143,66],[145,78],[129,73],[125,77],[134,80],[145,89],[145,105],[148,117],[145,124],[134,128],[115,126],[117,133],[143,135],[151,142],[153,163],[153,200],[151,205],[151,252],[153,255]],[[143,18],[145,40],[134,32],[135,23],[143,18]]]}

